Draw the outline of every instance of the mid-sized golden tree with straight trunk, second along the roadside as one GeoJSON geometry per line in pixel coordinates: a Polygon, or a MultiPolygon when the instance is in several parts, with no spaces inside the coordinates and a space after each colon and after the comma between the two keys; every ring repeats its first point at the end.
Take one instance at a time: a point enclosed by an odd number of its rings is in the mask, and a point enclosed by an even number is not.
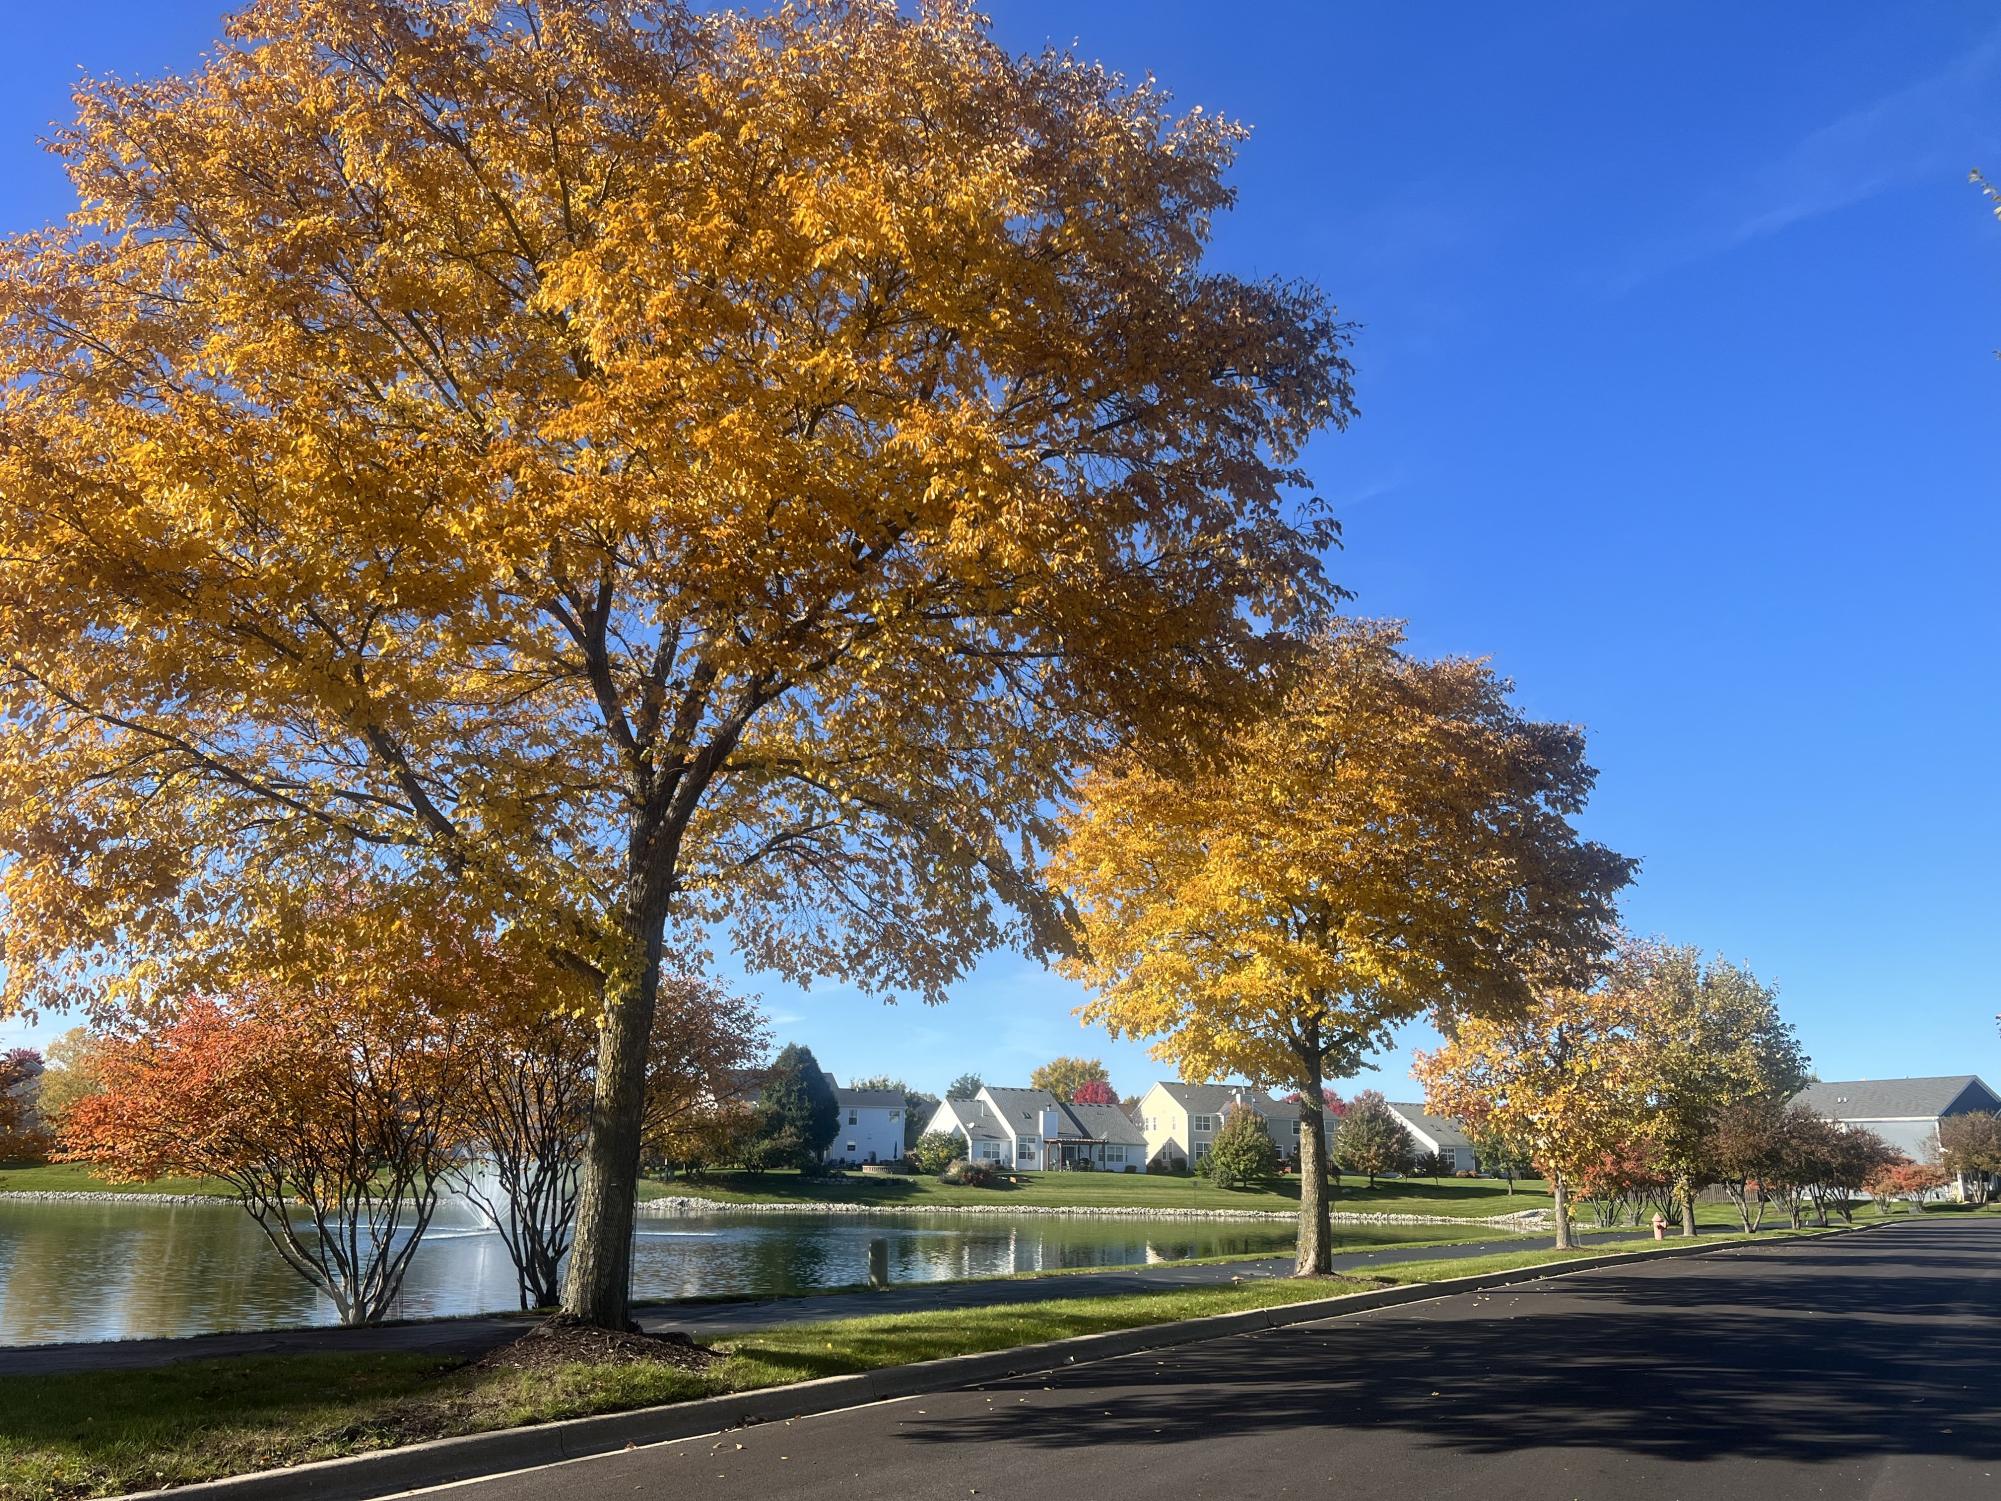
{"type": "Polygon", "coordinates": [[[1065,821],[1055,879],[1097,989],[1185,1079],[1299,1091],[1299,1273],[1327,1271],[1323,1079],[1425,1011],[1527,1005],[1607,947],[1633,863],[1571,825],[1585,738],[1527,718],[1483,662],[1397,626],[1313,638],[1217,757],[1117,755],[1065,821]]]}

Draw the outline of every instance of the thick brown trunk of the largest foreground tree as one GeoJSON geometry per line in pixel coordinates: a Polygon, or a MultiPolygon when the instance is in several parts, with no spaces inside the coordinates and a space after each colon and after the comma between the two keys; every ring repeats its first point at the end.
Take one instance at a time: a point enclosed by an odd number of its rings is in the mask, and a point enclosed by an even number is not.
{"type": "Polygon", "coordinates": [[[642,919],[626,963],[604,979],[598,1023],[598,1077],[590,1097],[590,1139],[576,1193],[576,1239],[562,1311],[598,1329],[630,1323],[632,1203],[646,1115],[646,1047],[660,989],[664,913],[642,919]]]}

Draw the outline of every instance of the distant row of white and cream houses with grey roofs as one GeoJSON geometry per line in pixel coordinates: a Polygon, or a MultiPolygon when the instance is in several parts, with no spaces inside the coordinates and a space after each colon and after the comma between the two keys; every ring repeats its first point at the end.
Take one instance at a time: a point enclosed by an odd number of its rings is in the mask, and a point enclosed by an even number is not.
{"type": "MultiPolygon", "coordinates": [[[[828,1163],[858,1167],[902,1157],[908,1103],[900,1093],[834,1089],[834,1101],[840,1131],[826,1149],[828,1163]]],[[[1941,1121],[1971,1111],[2001,1111],[2001,1095],[1975,1075],[1813,1083],[1797,1103],[1843,1125],[1869,1129],[1913,1161],[1937,1159],[1941,1121]]],[[[1281,1161],[1299,1161],[1299,1107],[1251,1085],[1163,1081],[1141,1095],[1131,1115],[1117,1105],[1071,1105],[1045,1089],[988,1085],[972,1099],[938,1103],[922,1121],[922,1131],[956,1135],[970,1161],[1019,1171],[1091,1167],[1141,1173],[1147,1167],[1199,1165],[1233,1109],[1255,1111],[1281,1161]]],[[[1439,1159],[1441,1171],[1479,1171],[1473,1143],[1457,1121],[1413,1103],[1391,1101],[1389,1109],[1417,1149],[1439,1159]]],[[[1337,1121],[1327,1125],[1329,1131],[1339,1129],[1337,1121]]]]}

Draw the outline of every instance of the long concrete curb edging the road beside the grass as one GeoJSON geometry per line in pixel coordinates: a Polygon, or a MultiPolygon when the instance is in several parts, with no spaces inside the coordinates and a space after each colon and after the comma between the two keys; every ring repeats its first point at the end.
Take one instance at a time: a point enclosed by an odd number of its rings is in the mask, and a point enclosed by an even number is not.
{"type": "MultiPolygon", "coordinates": [[[[1853,1235],[1891,1223],[1897,1221],[1829,1229],[1815,1239],[1853,1235]]],[[[744,1391],[728,1397],[702,1397],[666,1407],[640,1407],[630,1413],[602,1413],[598,1417],[572,1417],[524,1429],[496,1429],[492,1433],[466,1433],[454,1439],[430,1439],[402,1449],[320,1459],[290,1469],[266,1469],[254,1475],[198,1481],[164,1491],[132,1491],[126,1501],[158,1501],[166,1497],[174,1501],[292,1501],[294,1497],[310,1497],[312,1501],[370,1501],[372,1497],[402,1495],[406,1491],[486,1475],[506,1475],[516,1469],[536,1469],[540,1465],[588,1459],[620,1449],[694,1439],[704,1433],[722,1433],[752,1423],[816,1417],[844,1407],[862,1407],[866,1403],[914,1397],[930,1391],[956,1391],[982,1381],[1109,1361],[1147,1349],[1195,1345],[1205,1339],[1227,1339],[1259,1329],[1321,1323],[1323,1319],[1339,1319],[1351,1313],[1393,1309],[1405,1303],[1429,1303],[1439,1297],[1481,1293],[1493,1287],[1567,1277],[1581,1271],[1753,1247],[1757,1247],[1755,1241],[1729,1241],[1723,1245],[1665,1245],[1645,1251],[1575,1257],[1541,1267],[1477,1273],[1437,1283],[1413,1283],[1411,1287],[1383,1287],[1369,1293],[1345,1293],[1341,1297],[1285,1303],[1271,1309],[1217,1313],[1203,1319],[1115,1329],[1103,1335],[1053,1339],[1043,1345],[1019,1345],[1015,1349],[982,1351],[976,1355],[948,1355],[938,1361],[890,1365],[880,1371],[820,1377],[818,1381],[800,1381],[788,1387],[766,1387],[764,1391],[744,1391]]]]}

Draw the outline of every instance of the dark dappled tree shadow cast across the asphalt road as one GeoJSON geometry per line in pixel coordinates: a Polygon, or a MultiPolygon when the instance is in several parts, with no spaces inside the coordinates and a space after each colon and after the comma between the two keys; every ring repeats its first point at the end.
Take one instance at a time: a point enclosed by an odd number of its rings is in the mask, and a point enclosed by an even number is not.
{"type": "Polygon", "coordinates": [[[1389,1427],[1471,1455],[2001,1459],[2001,1281],[1969,1275],[2001,1259],[1949,1241],[1665,1263],[1155,1351],[988,1387],[1053,1391],[906,1437],[1063,1449],[1389,1427]]]}

